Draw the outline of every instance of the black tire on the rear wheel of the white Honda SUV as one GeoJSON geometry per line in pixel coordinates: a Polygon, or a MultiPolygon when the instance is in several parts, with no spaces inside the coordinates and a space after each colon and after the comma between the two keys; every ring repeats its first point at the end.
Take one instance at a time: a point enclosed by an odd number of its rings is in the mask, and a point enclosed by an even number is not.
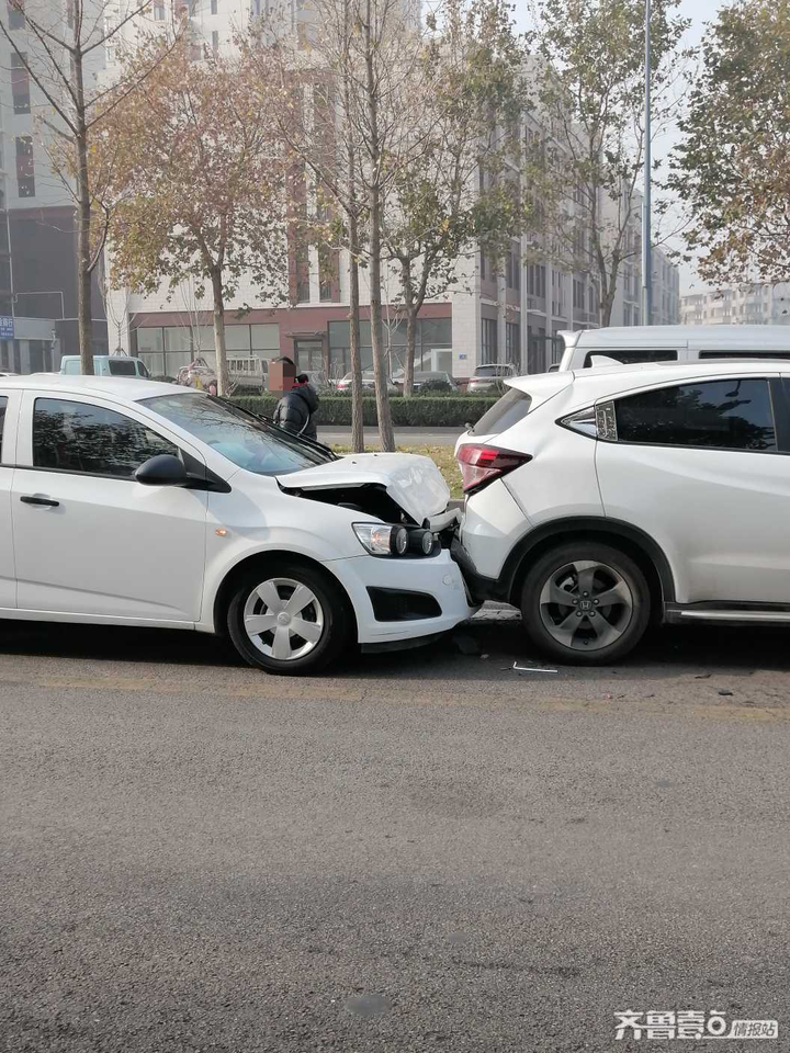
{"type": "MultiPolygon", "coordinates": [[[[566,580],[573,584],[578,578],[571,571],[566,580]]],[[[558,588],[564,591],[562,586],[558,588]]],[[[552,591],[554,595],[556,591],[552,591]]],[[[651,593],[642,570],[630,556],[599,542],[571,542],[545,553],[530,568],[521,590],[521,616],[527,635],[540,652],[565,665],[609,665],[623,658],[644,635],[650,615],[651,593]],[[556,589],[568,568],[579,563],[599,565],[599,570],[587,571],[594,573],[595,585],[600,586],[599,596],[611,596],[614,591],[611,582],[619,579],[616,588],[625,602],[591,608],[599,602],[590,599],[596,595],[595,587],[589,593],[582,593],[576,585],[568,589],[567,608],[564,603],[552,604],[549,590],[552,586],[556,589]],[[591,608],[591,612],[580,612],[579,605],[591,608]],[[594,622],[594,618],[597,621],[594,622]],[[569,629],[564,630],[563,623],[569,624],[569,629]],[[571,644],[557,638],[563,633],[571,634],[571,644]],[[609,636],[612,642],[606,643],[609,636]]]]}

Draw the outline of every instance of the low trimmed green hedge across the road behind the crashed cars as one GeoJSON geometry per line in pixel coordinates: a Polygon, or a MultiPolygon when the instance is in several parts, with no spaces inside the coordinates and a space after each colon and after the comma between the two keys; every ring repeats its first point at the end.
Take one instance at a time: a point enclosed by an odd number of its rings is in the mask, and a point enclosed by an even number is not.
{"type": "MultiPolygon", "coordinates": [[[[474,423],[483,414],[496,403],[497,396],[456,395],[449,397],[439,395],[430,397],[422,395],[419,398],[393,398],[390,403],[393,424],[396,428],[463,428],[470,421],[474,423]]],[[[238,395],[233,401],[253,414],[271,417],[276,406],[273,395],[238,395]]],[[[375,399],[363,398],[364,422],[371,427],[377,423],[375,399]]],[[[345,395],[323,396],[316,423],[329,427],[330,424],[350,426],[351,399],[345,395]]]]}

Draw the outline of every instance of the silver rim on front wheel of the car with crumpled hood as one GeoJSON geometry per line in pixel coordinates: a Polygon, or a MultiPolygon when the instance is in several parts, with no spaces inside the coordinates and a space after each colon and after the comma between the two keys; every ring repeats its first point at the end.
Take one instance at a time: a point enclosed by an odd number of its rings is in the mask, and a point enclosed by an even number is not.
{"type": "Polygon", "coordinates": [[[324,609],[294,578],[268,578],[250,592],[244,627],[253,647],[278,661],[304,658],[324,635],[324,609]]]}

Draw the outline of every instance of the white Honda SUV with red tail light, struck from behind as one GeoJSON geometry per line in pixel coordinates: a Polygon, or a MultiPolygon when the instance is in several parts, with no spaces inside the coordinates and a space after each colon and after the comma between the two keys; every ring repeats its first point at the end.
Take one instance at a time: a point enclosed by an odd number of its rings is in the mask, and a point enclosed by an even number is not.
{"type": "Polygon", "coordinates": [[[790,364],[523,376],[456,446],[456,558],[561,661],[627,654],[651,619],[790,622],[790,364]]]}

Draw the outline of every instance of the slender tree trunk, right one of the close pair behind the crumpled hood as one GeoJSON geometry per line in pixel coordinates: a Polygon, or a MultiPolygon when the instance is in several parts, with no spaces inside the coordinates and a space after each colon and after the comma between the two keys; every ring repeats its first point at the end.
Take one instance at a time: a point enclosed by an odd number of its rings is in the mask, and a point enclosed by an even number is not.
{"type": "Polygon", "coordinates": [[[366,103],[368,124],[370,128],[370,310],[371,310],[371,344],[373,347],[373,372],[376,387],[376,411],[379,416],[379,438],[382,450],[392,453],[395,450],[395,434],[390,411],[390,393],[387,390],[387,367],[384,361],[384,328],[382,324],[381,303],[381,183],[382,162],[381,143],[379,138],[379,88],[376,86],[373,56],[375,44],[372,35],[371,19],[373,18],[372,0],[366,3],[365,18],[365,67],[366,67],[366,103]]]}

